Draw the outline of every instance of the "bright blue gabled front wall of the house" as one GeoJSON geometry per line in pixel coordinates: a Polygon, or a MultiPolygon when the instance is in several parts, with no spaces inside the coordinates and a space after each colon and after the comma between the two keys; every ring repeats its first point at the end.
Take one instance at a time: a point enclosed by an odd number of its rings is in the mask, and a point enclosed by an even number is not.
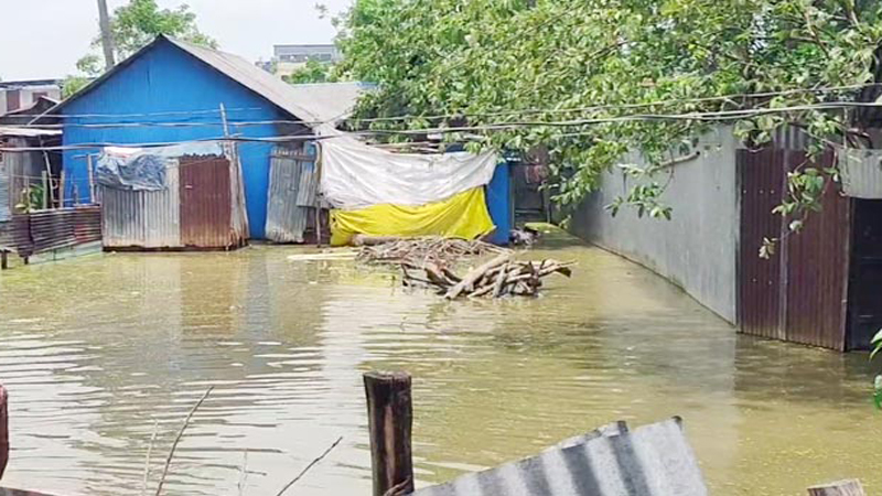
{"type": "MultiPolygon", "coordinates": [[[[64,144],[166,143],[223,138],[220,104],[227,109],[230,132],[244,138],[272,137],[279,131],[273,125],[237,126],[236,122],[291,119],[202,61],[171,44],[160,43],[63,108],[62,111],[71,116],[65,119],[64,144]],[[132,126],[83,127],[110,122],[132,126]]],[[[256,239],[265,237],[271,150],[269,143],[239,144],[250,235],[256,239]]],[[[90,201],[87,155],[98,152],[98,148],[64,152],[68,201],[90,201]]]]}

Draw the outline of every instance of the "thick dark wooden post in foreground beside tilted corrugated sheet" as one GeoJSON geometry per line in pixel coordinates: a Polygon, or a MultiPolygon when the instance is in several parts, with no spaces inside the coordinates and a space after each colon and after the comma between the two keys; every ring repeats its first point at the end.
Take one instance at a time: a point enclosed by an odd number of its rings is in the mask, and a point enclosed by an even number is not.
{"type": "Polygon", "coordinates": [[[374,496],[412,493],[410,374],[373,371],[364,379],[374,496]]]}

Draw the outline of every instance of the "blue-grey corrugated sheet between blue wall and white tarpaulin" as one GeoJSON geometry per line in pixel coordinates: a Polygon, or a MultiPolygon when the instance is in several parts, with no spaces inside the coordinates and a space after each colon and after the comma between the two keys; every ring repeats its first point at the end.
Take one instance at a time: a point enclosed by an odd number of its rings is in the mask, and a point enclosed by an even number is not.
{"type": "Polygon", "coordinates": [[[314,166],[300,150],[278,147],[270,164],[267,239],[276,242],[303,242],[310,209],[301,206],[315,201],[314,166]],[[303,179],[304,172],[306,179],[303,179]],[[302,187],[311,188],[303,191],[302,187]]]}

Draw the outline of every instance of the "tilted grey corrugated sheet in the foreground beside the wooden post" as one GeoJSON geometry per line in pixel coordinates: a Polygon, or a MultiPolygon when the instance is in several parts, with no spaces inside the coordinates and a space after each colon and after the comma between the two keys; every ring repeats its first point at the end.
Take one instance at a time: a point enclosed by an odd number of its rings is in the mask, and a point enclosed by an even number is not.
{"type": "Polygon", "coordinates": [[[624,422],[564,441],[537,456],[415,496],[706,496],[679,419],[628,431],[624,422]]]}

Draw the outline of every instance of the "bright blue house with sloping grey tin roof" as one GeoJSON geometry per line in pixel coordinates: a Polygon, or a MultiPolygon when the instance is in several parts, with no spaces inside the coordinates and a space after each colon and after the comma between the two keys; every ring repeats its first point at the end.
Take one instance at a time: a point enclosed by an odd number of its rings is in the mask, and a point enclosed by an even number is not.
{"type": "MultiPolygon", "coordinates": [[[[92,201],[88,157],[103,145],[222,139],[222,105],[233,137],[305,137],[334,105],[343,117],[359,91],[357,83],[337,84],[332,101],[315,103],[308,87],[297,89],[236,55],[159,36],[51,110],[64,116],[65,197],[92,201]]],[[[238,147],[250,237],[263,239],[273,143],[238,147]]]]}

